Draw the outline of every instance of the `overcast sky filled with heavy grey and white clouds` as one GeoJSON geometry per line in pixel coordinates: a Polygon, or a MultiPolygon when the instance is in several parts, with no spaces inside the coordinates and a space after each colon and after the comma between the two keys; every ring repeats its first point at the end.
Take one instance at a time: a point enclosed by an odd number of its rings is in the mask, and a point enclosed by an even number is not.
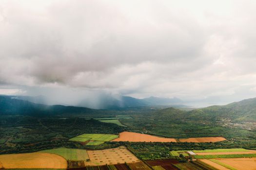
{"type": "Polygon", "coordinates": [[[0,0],[0,94],[256,97],[255,0],[0,0]]]}

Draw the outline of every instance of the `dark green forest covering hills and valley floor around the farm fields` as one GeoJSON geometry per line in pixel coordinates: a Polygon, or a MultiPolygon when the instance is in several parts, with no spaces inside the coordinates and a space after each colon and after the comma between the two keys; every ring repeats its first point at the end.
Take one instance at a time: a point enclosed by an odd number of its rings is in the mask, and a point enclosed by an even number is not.
{"type": "Polygon", "coordinates": [[[141,159],[170,158],[173,150],[217,148],[256,148],[256,99],[185,111],[177,108],[129,107],[119,110],[94,110],[82,107],[47,106],[0,96],[0,154],[35,152],[57,147],[77,149],[127,146],[141,159]],[[236,111],[237,110],[237,111],[236,111]],[[239,112],[239,113],[238,113],[239,112]],[[118,115],[126,127],[88,118],[113,118],[118,115]],[[84,119],[87,118],[87,119],[84,119]],[[250,122],[242,121],[250,118],[250,122]],[[224,136],[217,143],[105,142],[81,145],[68,139],[84,133],[118,134],[122,131],[166,137],[224,136]]]}

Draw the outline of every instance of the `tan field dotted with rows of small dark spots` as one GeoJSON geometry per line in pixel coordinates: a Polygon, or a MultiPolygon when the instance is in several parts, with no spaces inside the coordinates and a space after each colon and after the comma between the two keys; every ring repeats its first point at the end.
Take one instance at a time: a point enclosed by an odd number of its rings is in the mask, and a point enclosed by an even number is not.
{"type": "Polygon", "coordinates": [[[86,166],[98,166],[98,165],[114,165],[139,162],[139,159],[125,147],[118,147],[113,149],[87,151],[90,161],[84,161],[86,166]]]}

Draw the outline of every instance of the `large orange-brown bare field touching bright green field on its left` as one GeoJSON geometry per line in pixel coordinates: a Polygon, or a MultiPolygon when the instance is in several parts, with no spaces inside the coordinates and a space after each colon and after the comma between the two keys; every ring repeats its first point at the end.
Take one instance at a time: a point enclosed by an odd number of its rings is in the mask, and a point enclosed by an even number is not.
{"type": "Polygon", "coordinates": [[[112,141],[129,141],[129,142],[176,142],[175,138],[164,138],[134,132],[122,132],[119,137],[112,141]]]}

